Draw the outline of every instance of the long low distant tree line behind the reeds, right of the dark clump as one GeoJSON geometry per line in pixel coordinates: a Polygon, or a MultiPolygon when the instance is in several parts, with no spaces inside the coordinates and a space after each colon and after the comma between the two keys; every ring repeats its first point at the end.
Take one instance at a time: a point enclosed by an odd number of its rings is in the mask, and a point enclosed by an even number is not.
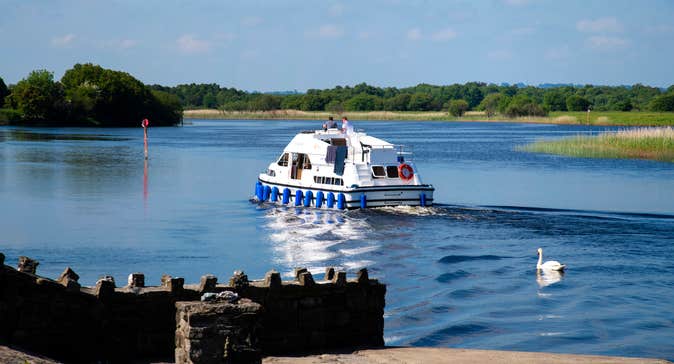
{"type": "Polygon", "coordinates": [[[491,116],[540,116],[550,111],[674,111],[674,86],[667,90],[633,86],[534,87],[468,82],[436,86],[376,87],[366,83],[310,89],[304,94],[268,94],[223,88],[217,84],[151,86],[176,95],[185,108],[223,111],[447,111],[460,116],[469,110],[491,116]]]}

